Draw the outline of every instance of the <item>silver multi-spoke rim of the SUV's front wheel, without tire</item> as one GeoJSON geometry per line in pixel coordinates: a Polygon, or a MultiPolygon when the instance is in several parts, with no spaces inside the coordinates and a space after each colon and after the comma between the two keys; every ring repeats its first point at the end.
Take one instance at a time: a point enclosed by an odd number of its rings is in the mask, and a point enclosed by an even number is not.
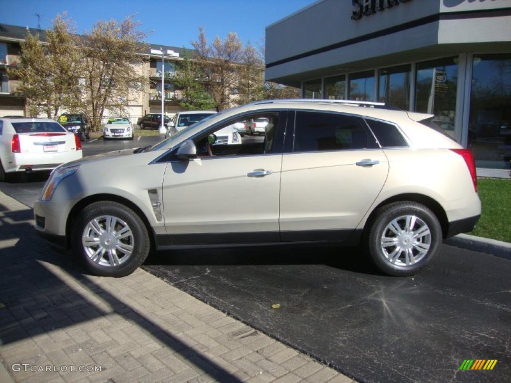
{"type": "Polygon", "coordinates": [[[117,217],[96,217],[85,226],[82,245],[85,254],[98,265],[119,266],[133,252],[133,232],[117,217]]]}

